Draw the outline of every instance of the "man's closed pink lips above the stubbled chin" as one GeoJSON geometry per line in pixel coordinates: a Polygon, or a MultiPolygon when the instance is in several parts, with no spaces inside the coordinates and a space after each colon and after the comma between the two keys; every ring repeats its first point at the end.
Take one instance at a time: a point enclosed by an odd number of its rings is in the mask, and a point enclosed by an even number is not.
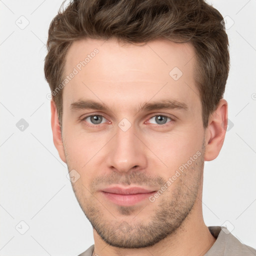
{"type": "Polygon", "coordinates": [[[107,187],[100,191],[105,198],[115,204],[122,206],[134,205],[142,200],[145,200],[150,195],[155,193],[155,190],[150,190],[142,187],[107,187]]]}

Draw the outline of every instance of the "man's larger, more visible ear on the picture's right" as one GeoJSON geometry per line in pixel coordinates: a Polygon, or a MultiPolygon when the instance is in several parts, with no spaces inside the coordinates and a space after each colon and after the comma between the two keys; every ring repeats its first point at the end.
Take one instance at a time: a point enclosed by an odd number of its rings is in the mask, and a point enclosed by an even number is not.
{"type": "Polygon", "coordinates": [[[223,145],[227,128],[227,102],[221,98],[216,110],[209,116],[205,130],[204,160],[215,159],[223,145]]]}

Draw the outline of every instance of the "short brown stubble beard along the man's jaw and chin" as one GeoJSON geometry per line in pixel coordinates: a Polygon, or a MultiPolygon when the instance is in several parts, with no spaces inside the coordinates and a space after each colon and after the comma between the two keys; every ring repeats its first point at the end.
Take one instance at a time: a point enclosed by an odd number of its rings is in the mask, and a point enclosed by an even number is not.
{"type": "MultiPolygon", "coordinates": [[[[201,182],[203,155],[204,153],[174,181],[174,189],[163,192],[155,202],[148,201],[150,204],[158,203],[150,216],[147,215],[147,205],[142,209],[133,205],[117,206],[117,217],[113,209],[109,208],[110,204],[99,202],[82,184],[72,183],[73,191],[92,227],[107,244],[119,248],[152,246],[174,234],[193,208],[201,182]],[[105,211],[108,211],[110,219],[106,218],[105,211]],[[147,218],[143,221],[144,213],[147,218]],[[127,218],[123,220],[125,216],[127,218]]],[[[67,166],[69,169],[68,163],[67,166]]]]}

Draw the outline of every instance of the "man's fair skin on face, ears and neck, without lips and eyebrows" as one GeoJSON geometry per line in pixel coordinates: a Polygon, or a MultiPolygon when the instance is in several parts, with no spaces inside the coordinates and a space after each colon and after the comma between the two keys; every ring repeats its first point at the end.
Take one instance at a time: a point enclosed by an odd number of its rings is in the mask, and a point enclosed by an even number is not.
{"type": "Polygon", "coordinates": [[[215,242],[202,216],[203,164],[222,147],[226,100],[219,101],[204,129],[189,43],[81,39],[67,52],[64,74],[94,48],[99,52],[63,88],[62,139],[51,101],[54,145],[68,170],[80,175],[72,186],[93,226],[94,253],[203,255],[215,242]],[[169,75],[173,67],[183,73],[178,80],[169,75]],[[187,110],[137,111],[145,102],[163,99],[183,102],[187,110]],[[79,100],[103,102],[110,110],[70,109],[79,100]],[[100,124],[83,119],[96,114],[104,117],[100,124]],[[157,126],[159,115],[171,119],[157,126]],[[123,118],[131,124],[126,131],[118,126],[123,118]],[[113,184],[157,191],[196,152],[200,155],[153,202],[120,206],[100,192],[113,184]]]}

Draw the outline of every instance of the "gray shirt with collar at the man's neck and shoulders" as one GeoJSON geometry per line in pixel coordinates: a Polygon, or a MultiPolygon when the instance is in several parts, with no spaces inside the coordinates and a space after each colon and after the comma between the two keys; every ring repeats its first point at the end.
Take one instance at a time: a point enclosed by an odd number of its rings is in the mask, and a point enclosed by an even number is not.
{"type": "MultiPolygon", "coordinates": [[[[256,250],[241,243],[224,226],[208,226],[210,233],[216,238],[204,256],[256,256],[256,250]]],[[[92,256],[94,244],[78,256],[92,256]]]]}

